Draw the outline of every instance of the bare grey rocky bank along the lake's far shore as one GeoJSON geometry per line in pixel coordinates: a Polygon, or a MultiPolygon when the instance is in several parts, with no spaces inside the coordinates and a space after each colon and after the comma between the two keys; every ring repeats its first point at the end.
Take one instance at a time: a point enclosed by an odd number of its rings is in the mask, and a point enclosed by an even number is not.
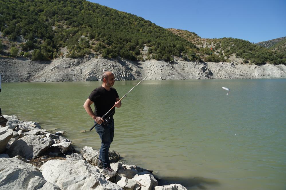
{"type": "MultiPolygon", "coordinates": [[[[286,78],[285,65],[242,64],[231,62],[191,62],[178,59],[162,67],[148,80],[286,78]]],[[[88,55],[84,58],[57,58],[31,61],[27,58],[0,58],[2,82],[97,81],[103,71],[114,73],[115,80],[142,80],[166,64],[164,61],[130,61],[88,55]]]]}

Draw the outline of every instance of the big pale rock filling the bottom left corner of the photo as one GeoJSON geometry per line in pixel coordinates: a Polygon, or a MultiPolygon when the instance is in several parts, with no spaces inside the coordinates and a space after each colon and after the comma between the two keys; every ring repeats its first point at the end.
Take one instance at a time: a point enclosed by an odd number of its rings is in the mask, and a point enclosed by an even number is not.
{"type": "Polygon", "coordinates": [[[0,171],[1,189],[59,189],[54,184],[47,184],[35,166],[17,158],[0,158],[0,171]]]}

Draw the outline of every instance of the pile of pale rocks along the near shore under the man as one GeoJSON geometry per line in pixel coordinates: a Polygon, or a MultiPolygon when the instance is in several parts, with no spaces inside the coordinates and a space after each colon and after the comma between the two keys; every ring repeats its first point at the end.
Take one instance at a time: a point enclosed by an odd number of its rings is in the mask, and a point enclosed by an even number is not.
{"type": "Polygon", "coordinates": [[[99,151],[85,146],[79,152],[64,131],[50,133],[37,122],[4,116],[0,128],[0,189],[128,189],[185,190],[180,184],[158,185],[152,170],[123,164],[116,151],[109,151],[115,177],[101,174],[99,151]]]}

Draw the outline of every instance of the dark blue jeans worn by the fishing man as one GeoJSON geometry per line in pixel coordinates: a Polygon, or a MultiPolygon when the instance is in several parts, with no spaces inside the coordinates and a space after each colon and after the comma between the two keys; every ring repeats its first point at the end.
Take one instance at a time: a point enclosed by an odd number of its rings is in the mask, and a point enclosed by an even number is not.
{"type": "Polygon", "coordinates": [[[101,139],[98,159],[102,161],[103,168],[110,167],[108,151],[114,137],[114,120],[110,119],[105,125],[97,124],[95,130],[101,139]]]}

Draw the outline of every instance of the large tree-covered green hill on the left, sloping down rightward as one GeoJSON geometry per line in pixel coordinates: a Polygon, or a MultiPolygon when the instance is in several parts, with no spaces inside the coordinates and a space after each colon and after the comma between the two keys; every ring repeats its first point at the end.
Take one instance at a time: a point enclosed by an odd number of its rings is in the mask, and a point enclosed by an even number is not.
{"type": "Polygon", "coordinates": [[[0,10],[2,54],[10,52],[12,56],[19,50],[16,55],[53,59],[66,47],[68,57],[94,53],[168,61],[197,49],[141,17],[84,0],[4,0],[0,10]],[[23,43],[19,43],[21,39],[23,43]],[[149,49],[143,52],[145,46],[149,49]]]}

